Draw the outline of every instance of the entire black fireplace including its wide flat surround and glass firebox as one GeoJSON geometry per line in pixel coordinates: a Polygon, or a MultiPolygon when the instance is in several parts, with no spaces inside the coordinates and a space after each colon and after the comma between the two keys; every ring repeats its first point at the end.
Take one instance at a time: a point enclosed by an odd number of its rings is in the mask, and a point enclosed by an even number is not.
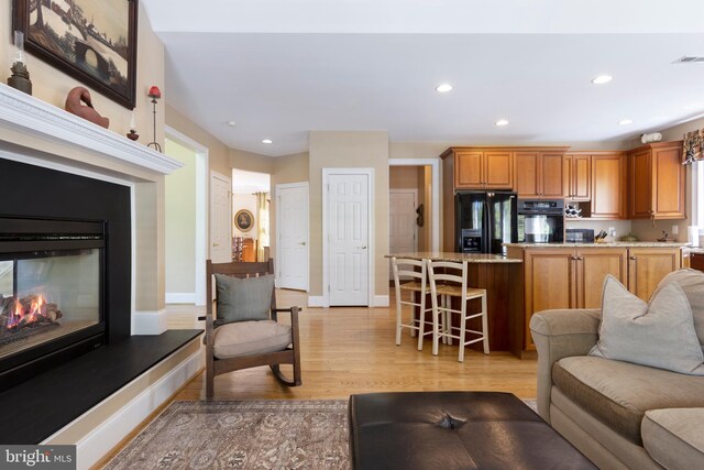
{"type": "Polygon", "coordinates": [[[0,160],[0,392],[130,337],[130,211],[125,186],[0,160]]]}

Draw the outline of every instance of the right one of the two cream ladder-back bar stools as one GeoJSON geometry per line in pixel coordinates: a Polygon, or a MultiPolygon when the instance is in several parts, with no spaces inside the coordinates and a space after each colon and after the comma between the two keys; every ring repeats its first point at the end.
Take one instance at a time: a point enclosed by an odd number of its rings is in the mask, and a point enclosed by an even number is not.
{"type": "Polygon", "coordinates": [[[430,298],[432,299],[432,316],[433,318],[443,317],[444,328],[440,329],[439,324],[436,323],[436,329],[438,332],[432,338],[432,353],[438,353],[438,340],[442,338],[443,342],[447,340],[449,345],[452,345],[452,338],[460,340],[460,354],[459,361],[464,362],[464,347],[474,342],[484,342],[484,353],[488,354],[488,327],[486,319],[486,291],[483,288],[468,287],[468,262],[463,261],[427,261],[428,264],[428,278],[430,282],[430,298]],[[438,269],[441,272],[436,272],[438,269]],[[442,282],[444,285],[438,284],[442,282]],[[452,283],[452,284],[449,284],[452,283]],[[441,303],[438,305],[438,296],[441,296],[441,303]],[[460,297],[460,309],[452,308],[452,297],[460,297]],[[482,311],[477,314],[468,315],[466,304],[472,298],[482,299],[482,311]],[[452,314],[460,314],[459,326],[452,326],[452,314]],[[481,317],[482,330],[473,330],[466,328],[466,320],[481,317]],[[453,331],[458,331],[454,334],[453,331]],[[466,335],[473,336],[472,339],[465,340],[466,335]]]}

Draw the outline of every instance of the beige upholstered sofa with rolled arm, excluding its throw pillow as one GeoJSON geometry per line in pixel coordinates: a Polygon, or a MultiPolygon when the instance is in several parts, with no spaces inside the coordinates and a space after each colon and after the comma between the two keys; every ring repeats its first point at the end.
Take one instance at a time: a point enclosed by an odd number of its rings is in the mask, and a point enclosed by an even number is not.
{"type": "MultiPolygon", "coordinates": [[[[662,284],[689,285],[702,342],[704,275],[696,275],[682,270],[662,284]]],[[[594,309],[532,316],[540,416],[602,469],[704,468],[704,376],[588,357],[600,319],[594,309]]]]}

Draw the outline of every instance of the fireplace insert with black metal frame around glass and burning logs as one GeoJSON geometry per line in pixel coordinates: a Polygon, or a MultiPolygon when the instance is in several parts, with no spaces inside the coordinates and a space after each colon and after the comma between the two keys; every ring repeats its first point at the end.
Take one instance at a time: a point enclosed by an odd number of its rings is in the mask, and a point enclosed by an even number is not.
{"type": "Polygon", "coordinates": [[[105,222],[0,218],[0,375],[105,331],[105,222]]]}

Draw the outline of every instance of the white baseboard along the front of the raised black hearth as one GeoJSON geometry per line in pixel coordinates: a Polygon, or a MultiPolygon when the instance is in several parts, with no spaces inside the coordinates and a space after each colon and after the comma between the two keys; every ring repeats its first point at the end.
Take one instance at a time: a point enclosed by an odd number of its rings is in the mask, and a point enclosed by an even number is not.
{"type": "MultiPolygon", "coordinates": [[[[177,353],[178,351],[174,352],[174,354],[177,353]]],[[[173,357],[174,354],[172,354],[170,357],[173,357]]],[[[164,361],[168,361],[169,358],[166,358],[164,361]]],[[[156,365],[155,368],[157,367],[158,365],[156,365]]],[[[107,456],[108,452],[110,452],[117,445],[120,444],[122,439],[124,439],[130,433],[132,433],[140,425],[140,423],[142,423],[150,416],[150,414],[162,406],[168,398],[174,395],[174,393],[176,393],[178,389],[180,389],[185,383],[191,380],[201,369],[202,353],[200,350],[198,350],[187,357],[183,362],[172,369],[163,378],[139,393],[134,398],[128,402],[108,419],[103,420],[90,433],[76,441],[77,469],[89,469],[91,466],[107,456]]],[[[96,405],[84,416],[89,416],[91,412],[98,409],[106,402],[114,398],[117,395],[124,392],[125,390],[129,390],[131,386],[140,386],[140,381],[151,372],[152,370],[148,370],[144,374],[134,379],[134,381],[130,382],[130,384],[125,385],[125,387],[116,392],[113,395],[106,398],[100,404],[96,405]]],[[[74,423],[66,426],[66,428],[76,424],[81,418],[82,417],[77,418],[74,423]]],[[[90,417],[88,417],[88,419],[90,419],[90,417]]],[[[58,442],[55,444],[69,444],[62,441],[64,439],[59,437],[62,433],[65,433],[66,428],[59,430],[54,436],[46,439],[45,442],[53,444],[52,440],[56,439],[58,440],[58,442]]],[[[68,434],[70,434],[70,431],[68,434]]]]}

